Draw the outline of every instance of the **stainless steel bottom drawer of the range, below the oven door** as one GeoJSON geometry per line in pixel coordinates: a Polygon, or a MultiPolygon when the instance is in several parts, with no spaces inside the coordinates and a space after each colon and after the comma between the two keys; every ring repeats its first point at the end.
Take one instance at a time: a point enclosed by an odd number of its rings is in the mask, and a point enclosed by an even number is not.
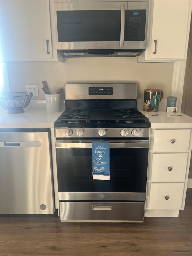
{"type": "Polygon", "coordinates": [[[61,221],[143,222],[145,202],[60,201],[61,221]]]}

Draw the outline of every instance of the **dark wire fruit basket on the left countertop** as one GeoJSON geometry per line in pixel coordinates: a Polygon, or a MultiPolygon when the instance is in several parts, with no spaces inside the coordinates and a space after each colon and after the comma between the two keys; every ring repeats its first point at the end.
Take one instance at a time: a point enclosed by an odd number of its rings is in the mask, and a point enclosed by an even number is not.
{"type": "Polygon", "coordinates": [[[0,93],[0,106],[8,109],[9,114],[22,113],[32,96],[33,94],[29,92],[3,92],[0,93]]]}

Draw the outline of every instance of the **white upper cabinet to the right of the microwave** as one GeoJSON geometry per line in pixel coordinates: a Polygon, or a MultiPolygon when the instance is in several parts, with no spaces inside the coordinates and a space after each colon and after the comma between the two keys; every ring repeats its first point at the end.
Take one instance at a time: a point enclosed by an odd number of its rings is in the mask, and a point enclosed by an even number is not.
{"type": "Polygon", "coordinates": [[[190,18],[191,0],[151,0],[147,48],[138,62],[186,59],[190,18]]]}

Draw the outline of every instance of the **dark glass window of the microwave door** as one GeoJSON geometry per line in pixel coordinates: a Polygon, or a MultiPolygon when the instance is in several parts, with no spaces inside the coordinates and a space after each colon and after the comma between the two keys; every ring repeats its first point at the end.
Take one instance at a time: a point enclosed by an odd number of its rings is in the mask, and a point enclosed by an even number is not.
{"type": "Polygon", "coordinates": [[[57,11],[58,42],[120,41],[121,11],[57,11]]]}

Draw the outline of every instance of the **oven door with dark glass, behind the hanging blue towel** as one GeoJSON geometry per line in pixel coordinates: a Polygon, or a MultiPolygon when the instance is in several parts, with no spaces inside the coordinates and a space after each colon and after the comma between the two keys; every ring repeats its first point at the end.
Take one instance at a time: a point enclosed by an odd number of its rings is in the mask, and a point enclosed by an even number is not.
{"type": "Polygon", "coordinates": [[[146,199],[149,140],[106,141],[109,181],[92,178],[92,141],[55,141],[59,200],[102,200],[101,193],[104,200],[146,199]]]}

